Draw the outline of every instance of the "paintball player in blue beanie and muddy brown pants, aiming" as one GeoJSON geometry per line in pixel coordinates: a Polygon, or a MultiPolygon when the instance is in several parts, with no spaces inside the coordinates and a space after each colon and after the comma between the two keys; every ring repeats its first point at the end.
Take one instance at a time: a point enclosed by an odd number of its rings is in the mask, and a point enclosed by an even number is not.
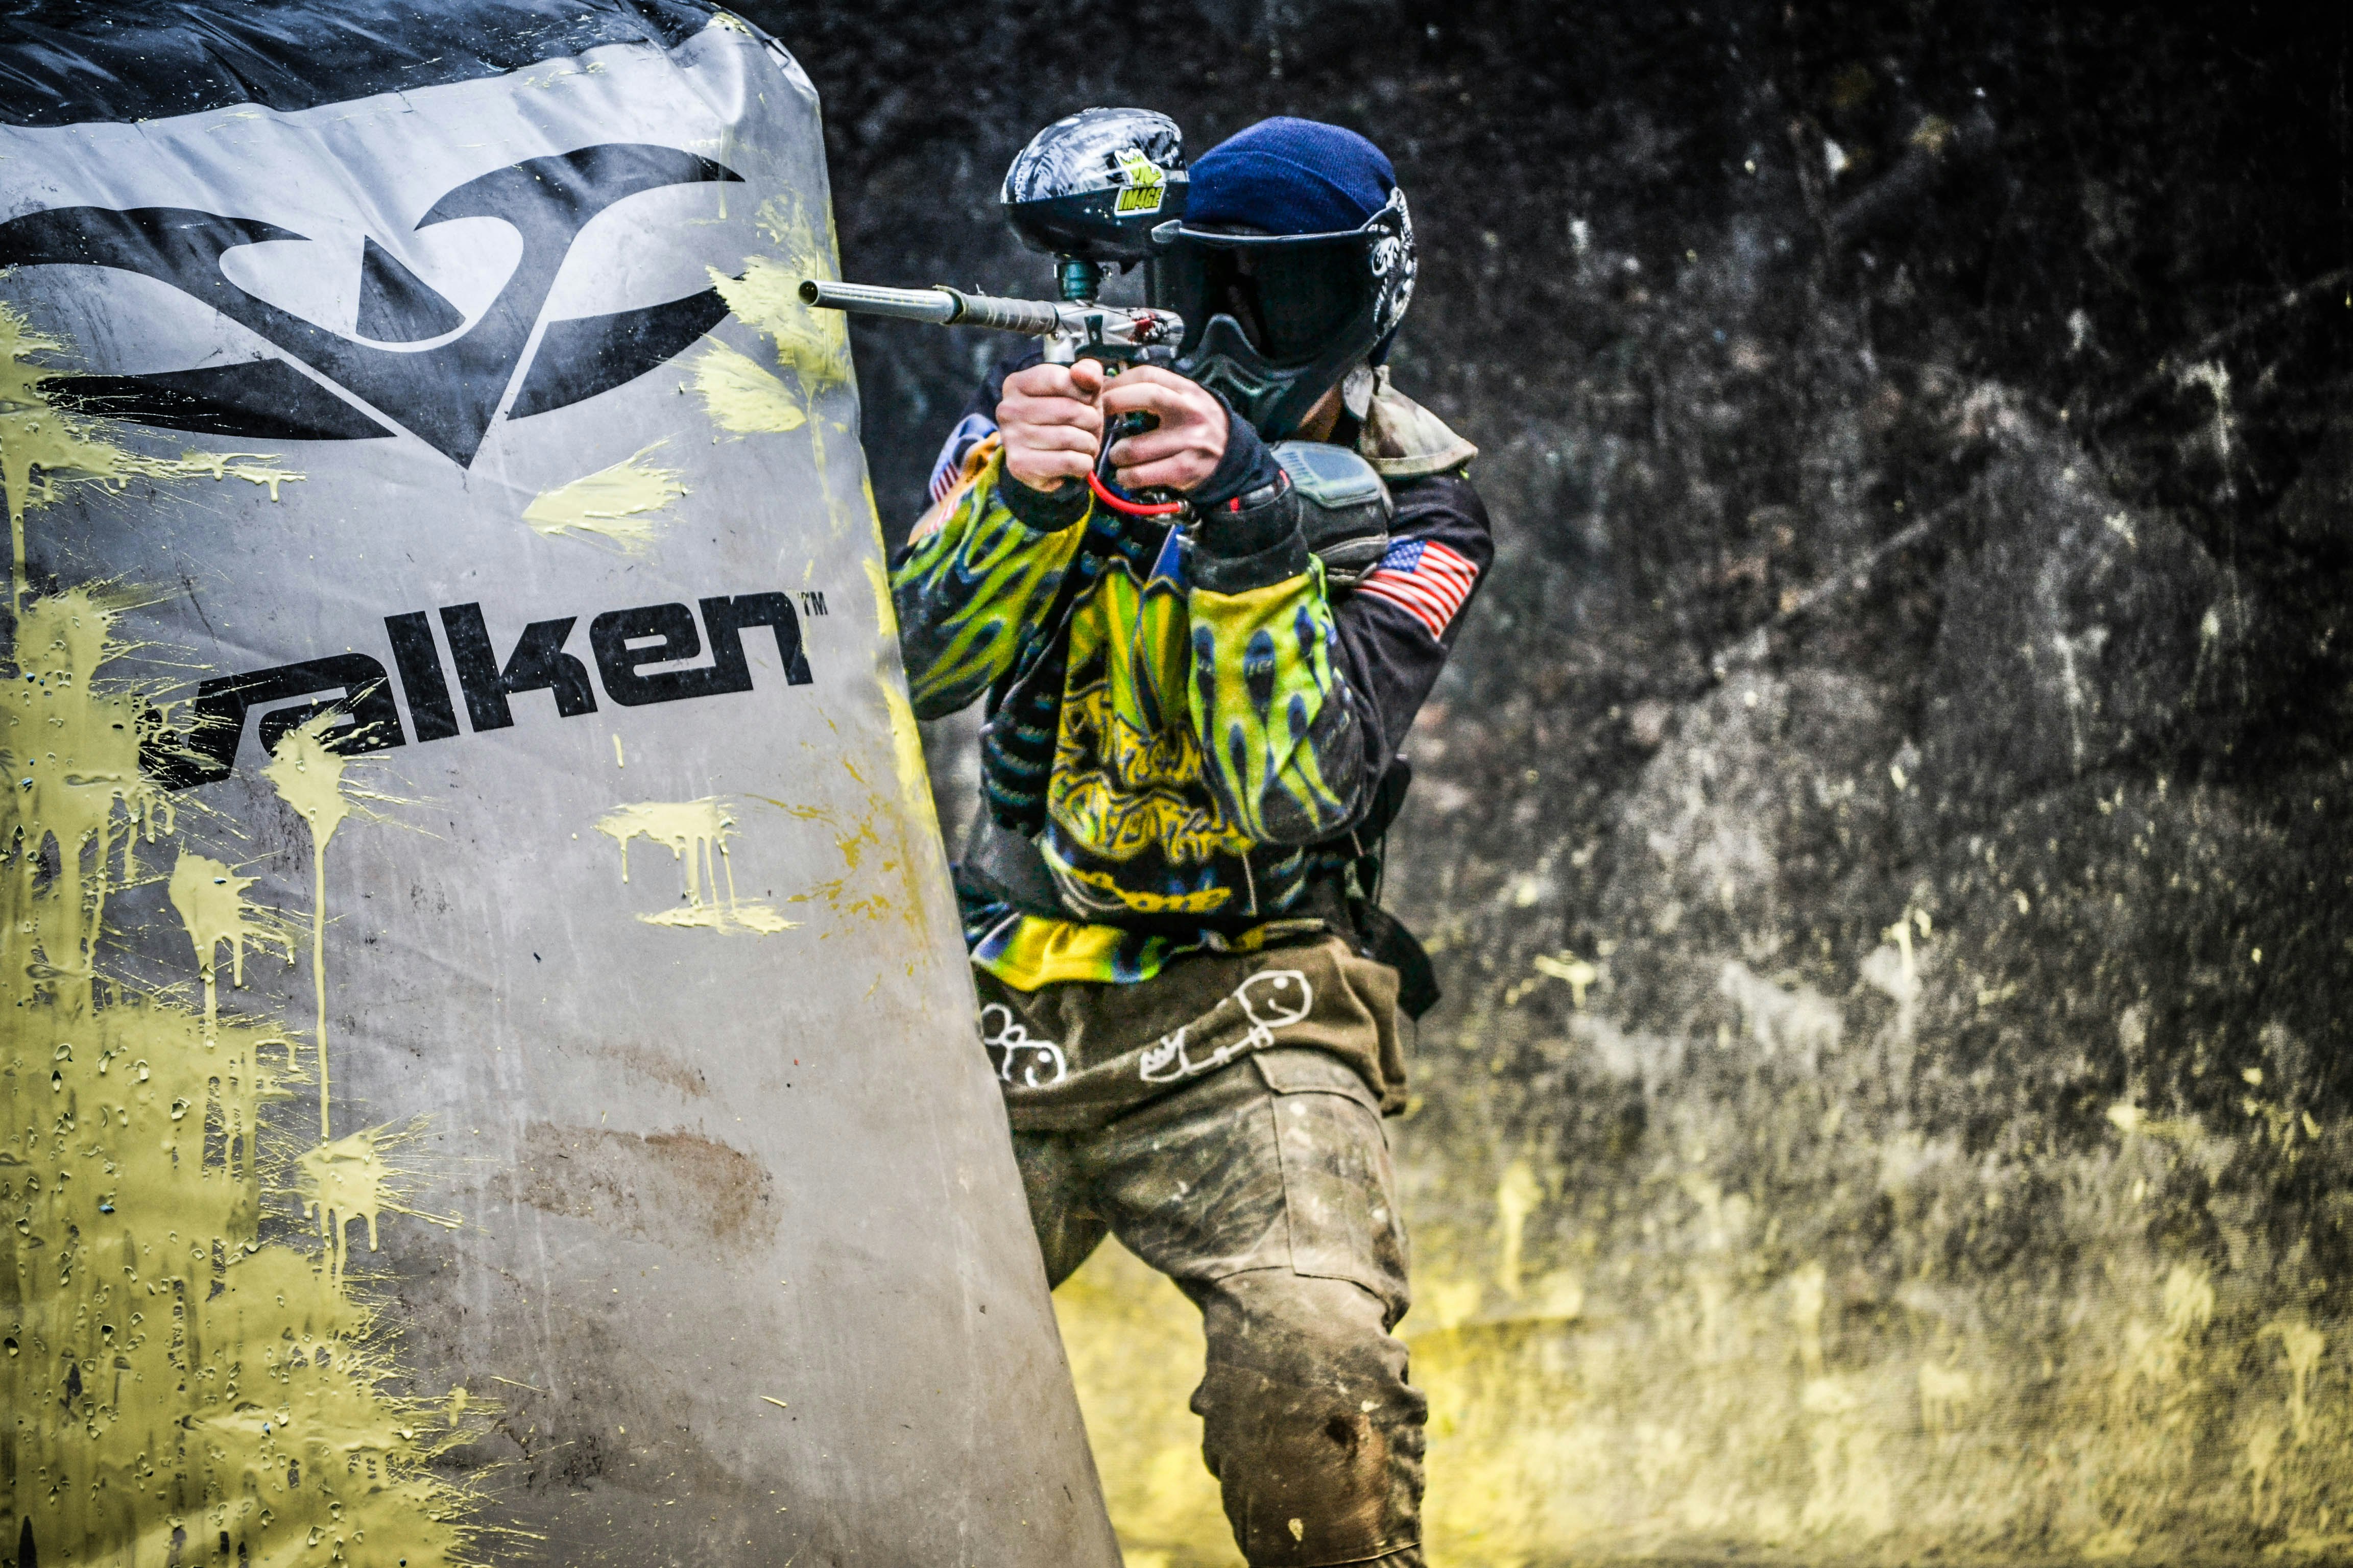
{"type": "Polygon", "coordinates": [[[908,682],[988,701],[958,896],[1047,1279],[1118,1234],[1200,1307],[1249,1563],[1419,1563],[1381,1117],[1428,966],[1374,893],[1492,559],[1475,449],[1381,369],[1414,244],[1362,136],[1254,125],[1153,237],[1186,374],[991,374],[894,564],[908,682]]]}

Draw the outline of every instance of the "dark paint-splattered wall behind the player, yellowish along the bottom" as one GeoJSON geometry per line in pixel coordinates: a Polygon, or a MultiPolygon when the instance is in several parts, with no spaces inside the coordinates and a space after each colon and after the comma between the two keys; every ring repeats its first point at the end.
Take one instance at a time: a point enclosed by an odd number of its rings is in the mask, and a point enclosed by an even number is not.
{"type": "MultiPolygon", "coordinates": [[[[1499,541],[1391,872],[1445,1559],[2353,1544],[2344,7],[746,12],[852,277],[1042,292],[1087,103],[1398,165],[1499,541]]],[[[998,346],[854,341],[899,536],[998,346]]],[[[1104,1267],[1122,1526],[1221,1561],[1104,1267]]]]}

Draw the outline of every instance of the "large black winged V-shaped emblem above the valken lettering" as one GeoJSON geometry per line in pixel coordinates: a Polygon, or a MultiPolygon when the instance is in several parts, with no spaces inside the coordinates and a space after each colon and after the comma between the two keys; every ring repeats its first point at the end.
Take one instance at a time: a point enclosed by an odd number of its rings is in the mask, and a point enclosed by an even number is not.
{"type": "MultiPolygon", "coordinates": [[[[739,181],[732,169],[645,143],[605,143],[492,169],[442,195],[416,228],[499,219],[522,237],[522,259],[487,310],[464,313],[367,240],[360,261],[362,336],[348,339],[240,289],[221,256],[240,244],[306,240],[259,219],[191,207],[49,207],[0,223],[0,268],[106,266],[158,277],[287,350],[367,409],[336,397],[282,360],[214,364],[148,376],[73,376],[59,393],[92,414],[174,430],[261,440],[367,440],[391,435],[381,414],[449,461],[471,465],[522,369],[555,273],[588,219],[614,202],[696,181],[739,181]],[[449,336],[456,334],[456,336],[449,336]],[[367,341],[372,339],[372,341],[367,341]],[[447,339],[431,343],[433,339],[447,339]],[[381,343],[431,343],[381,348],[381,343]]],[[[508,418],[595,397],[673,357],[722,315],[715,289],[640,310],[548,322],[522,369],[508,418]]]]}

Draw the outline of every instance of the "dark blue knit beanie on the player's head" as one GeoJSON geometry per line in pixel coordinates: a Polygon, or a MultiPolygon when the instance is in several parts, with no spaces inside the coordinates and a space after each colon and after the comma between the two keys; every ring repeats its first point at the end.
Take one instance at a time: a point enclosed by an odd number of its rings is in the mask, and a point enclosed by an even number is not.
{"type": "Polygon", "coordinates": [[[1193,162],[1184,221],[1329,235],[1377,214],[1395,183],[1381,148],[1355,132],[1278,115],[1226,136],[1193,162]]]}

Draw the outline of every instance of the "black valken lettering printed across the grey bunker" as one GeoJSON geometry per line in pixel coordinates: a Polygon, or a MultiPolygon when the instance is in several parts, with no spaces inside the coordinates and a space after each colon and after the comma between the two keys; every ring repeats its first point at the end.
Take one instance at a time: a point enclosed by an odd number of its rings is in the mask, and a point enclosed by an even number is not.
{"type": "MultiPolygon", "coordinates": [[[[809,602],[809,614],[826,614],[821,595],[802,597],[809,602]]],[[[141,745],[141,764],[151,778],[174,790],[219,783],[238,762],[245,717],[256,710],[266,710],[254,736],[264,752],[311,719],[341,712],[351,724],[329,731],[329,745],[355,755],[407,745],[412,731],[416,741],[447,741],[461,733],[459,703],[475,731],[508,729],[515,722],[508,698],[527,691],[551,693],[555,712],[567,719],[598,710],[598,684],[605,689],[605,701],[619,708],[751,691],[744,632],[758,628],[776,637],[786,684],[809,684],[800,616],[784,592],[720,595],[699,599],[694,609],[685,604],[607,609],[588,623],[595,684],[588,663],[565,651],[579,616],[532,621],[504,658],[480,604],[442,607],[440,625],[449,644],[447,665],[426,611],[384,618],[393,665],[400,670],[400,693],[407,698],[409,729],[400,724],[391,672],[379,658],[329,654],[198,684],[188,729],[172,733],[158,715],[153,733],[141,745]],[[708,663],[689,665],[687,661],[706,656],[706,644],[708,663]],[[456,670],[454,693],[449,665],[456,670]]]]}

